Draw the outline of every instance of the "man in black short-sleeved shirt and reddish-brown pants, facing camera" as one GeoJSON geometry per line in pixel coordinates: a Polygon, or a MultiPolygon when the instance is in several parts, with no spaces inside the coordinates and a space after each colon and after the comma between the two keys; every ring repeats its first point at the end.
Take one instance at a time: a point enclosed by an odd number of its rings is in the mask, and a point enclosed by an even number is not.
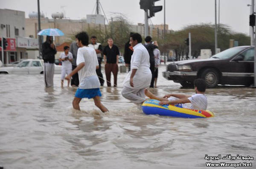
{"type": "Polygon", "coordinates": [[[116,45],[113,45],[113,39],[108,38],[108,46],[103,50],[104,62],[105,62],[105,73],[108,87],[111,87],[111,72],[114,75],[114,87],[117,84],[117,73],[118,73],[118,60],[119,60],[119,49],[116,45]]]}

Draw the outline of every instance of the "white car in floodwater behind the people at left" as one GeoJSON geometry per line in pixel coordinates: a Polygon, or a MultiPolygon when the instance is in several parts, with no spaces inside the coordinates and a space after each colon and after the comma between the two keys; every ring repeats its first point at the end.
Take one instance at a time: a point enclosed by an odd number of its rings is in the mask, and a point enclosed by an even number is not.
{"type": "MultiPolygon", "coordinates": [[[[61,66],[55,65],[54,73],[61,74],[61,66]]],[[[43,74],[44,61],[40,59],[26,59],[14,67],[0,68],[0,74],[43,74]]]]}

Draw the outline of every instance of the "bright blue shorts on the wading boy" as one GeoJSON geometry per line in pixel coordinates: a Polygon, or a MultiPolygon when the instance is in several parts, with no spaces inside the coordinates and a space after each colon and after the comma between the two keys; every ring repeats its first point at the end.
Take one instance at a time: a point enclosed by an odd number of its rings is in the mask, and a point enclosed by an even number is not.
{"type": "Polygon", "coordinates": [[[99,88],[95,88],[95,89],[80,89],[78,88],[76,90],[76,94],[75,97],[77,98],[94,98],[95,96],[102,96],[99,88]]]}

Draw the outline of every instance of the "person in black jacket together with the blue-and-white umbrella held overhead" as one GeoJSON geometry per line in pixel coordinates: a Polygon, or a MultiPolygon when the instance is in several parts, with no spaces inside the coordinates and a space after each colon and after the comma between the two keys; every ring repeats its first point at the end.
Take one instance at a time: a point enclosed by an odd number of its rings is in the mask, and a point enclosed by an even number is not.
{"type": "Polygon", "coordinates": [[[44,83],[45,87],[53,86],[54,61],[57,53],[55,45],[52,43],[52,36],[64,36],[64,33],[57,28],[43,29],[38,35],[46,35],[46,41],[42,44],[42,57],[44,60],[44,83]]]}

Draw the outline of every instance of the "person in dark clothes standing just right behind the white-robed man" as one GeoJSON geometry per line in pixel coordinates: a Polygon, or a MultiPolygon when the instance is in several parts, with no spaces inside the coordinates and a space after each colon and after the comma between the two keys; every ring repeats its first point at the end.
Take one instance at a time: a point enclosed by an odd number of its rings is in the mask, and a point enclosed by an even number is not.
{"type": "Polygon", "coordinates": [[[145,38],[145,48],[148,50],[149,54],[149,62],[150,62],[150,70],[152,73],[152,79],[149,87],[154,88],[154,66],[155,66],[155,61],[154,61],[154,49],[158,48],[156,45],[153,45],[151,43],[152,38],[150,36],[147,36],[145,38]]]}

